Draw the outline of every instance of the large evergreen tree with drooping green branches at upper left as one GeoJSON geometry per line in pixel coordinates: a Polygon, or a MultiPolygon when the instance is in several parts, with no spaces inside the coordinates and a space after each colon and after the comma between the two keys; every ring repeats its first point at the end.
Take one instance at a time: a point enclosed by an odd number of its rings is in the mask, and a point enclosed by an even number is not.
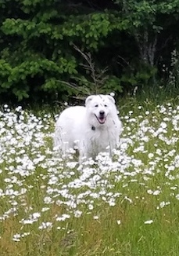
{"type": "Polygon", "coordinates": [[[63,99],[75,93],[63,82],[83,78],[73,43],[97,51],[113,30],[113,15],[91,12],[81,2],[64,4],[59,0],[16,0],[13,13],[13,0],[1,5],[10,15],[3,13],[2,32],[9,43],[1,52],[0,93],[10,89],[19,100],[41,97],[41,92],[54,97],[60,93],[63,99]]]}

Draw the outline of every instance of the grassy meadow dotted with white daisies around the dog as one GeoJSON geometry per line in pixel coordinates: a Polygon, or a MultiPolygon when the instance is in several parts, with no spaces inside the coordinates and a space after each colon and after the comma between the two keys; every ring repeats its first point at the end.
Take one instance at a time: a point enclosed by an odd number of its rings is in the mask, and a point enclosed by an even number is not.
{"type": "Polygon", "coordinates": [[[52,113],[0,116],[1,256],[179,255],[179,104],[121,106],[113,161],[83,166],[53,151],[52,113]]]}

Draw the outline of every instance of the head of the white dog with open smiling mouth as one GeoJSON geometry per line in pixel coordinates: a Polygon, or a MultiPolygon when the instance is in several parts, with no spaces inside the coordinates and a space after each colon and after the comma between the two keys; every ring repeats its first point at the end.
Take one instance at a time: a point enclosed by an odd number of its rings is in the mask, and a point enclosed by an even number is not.
{"type": "Polygon", "coordinates": [[[95,121],[97,120],[99,125],[106,123],[106,119],[113,112],[116,114],[115,101],[110,95],[91,95],[86,99],[85,105],[89,118],[95,116],[95,121]]]}

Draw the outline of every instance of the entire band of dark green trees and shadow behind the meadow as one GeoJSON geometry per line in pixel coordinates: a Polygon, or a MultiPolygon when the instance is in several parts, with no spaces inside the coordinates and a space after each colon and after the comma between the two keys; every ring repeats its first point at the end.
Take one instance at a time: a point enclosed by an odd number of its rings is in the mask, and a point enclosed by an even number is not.
{"type": "Polygon", "coordinates": [[[179,1],[0,0],[0,99],[177,93],[179,1]]]}

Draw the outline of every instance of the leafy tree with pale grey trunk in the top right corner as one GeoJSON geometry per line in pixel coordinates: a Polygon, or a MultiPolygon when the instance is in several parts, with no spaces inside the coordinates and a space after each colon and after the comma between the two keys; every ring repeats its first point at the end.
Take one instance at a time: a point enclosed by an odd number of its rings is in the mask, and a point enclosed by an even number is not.
{"type": "MultiPolygon", "coordinates": [[[[145,0],[114,0],[120,5],[120,15],[129,21],[127,31],[134,36],[138,45],[141,60],[155,65],[157,42],[163,31],[176,25],[179,20],[179,2],[145,1],[145,0]]],[[[161,46],[160,46],[161,47],[161,46]]]]}

